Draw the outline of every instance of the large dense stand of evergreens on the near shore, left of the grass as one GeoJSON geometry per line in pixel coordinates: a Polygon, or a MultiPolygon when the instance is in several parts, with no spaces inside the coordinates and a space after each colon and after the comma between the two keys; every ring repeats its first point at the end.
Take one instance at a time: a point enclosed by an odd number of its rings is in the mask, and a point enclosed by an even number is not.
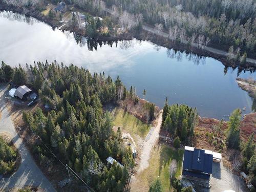
{"type": "Polygon", "coordinates": [[[135,163],[130,148],[124,147],[120,130],[112,131],[112,115],[102,110],[103,103],[129,95],[119,77],[113,81],[104,73],[91,74],[56,61],[37,62],[26,68],[6,66],[3,62],[3,80],[12,80],[17,86],[26,84],[50,106],[48,113],[37,108],[34,114],[23,114],[30,130],[43,141],[33,146],[41,165],[49,167],[56,163],[45,143],[94,190],[122,191],[135,163]],[[109,156],[124,167],[115,163],[109,166],[109,156]]]}

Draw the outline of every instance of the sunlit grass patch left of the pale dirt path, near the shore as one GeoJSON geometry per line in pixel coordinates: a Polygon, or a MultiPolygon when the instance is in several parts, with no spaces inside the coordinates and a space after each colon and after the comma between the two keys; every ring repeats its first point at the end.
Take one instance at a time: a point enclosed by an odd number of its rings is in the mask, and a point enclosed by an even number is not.
{"type": "Polygon", "coordinates": [[[114,115],[114,125],[120,126],[121,129],[130,133],[132,136],[136,134],[144,139],[148,131],[150,131],[150,124],[142,122],[123,109],[115,108],[112,113],[114,115]]]}

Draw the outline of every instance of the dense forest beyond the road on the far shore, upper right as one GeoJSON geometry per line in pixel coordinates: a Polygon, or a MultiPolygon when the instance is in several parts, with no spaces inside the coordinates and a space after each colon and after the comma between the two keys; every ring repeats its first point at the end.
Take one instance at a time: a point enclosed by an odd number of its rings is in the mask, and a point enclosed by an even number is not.
{"type": "Polygon", "coordinates": [[[252,0],[105,2],[107,7],[114,5],[113,11],[120,15],[124,10],[134,16],[142,14],[144,22],[155,25],[157,31],[168,30],[170,40],[180,44],[196,43],[204,48],[210,43],[226,51],[233,46],[242,54],[256,56],[256,4],[252,0]]]}

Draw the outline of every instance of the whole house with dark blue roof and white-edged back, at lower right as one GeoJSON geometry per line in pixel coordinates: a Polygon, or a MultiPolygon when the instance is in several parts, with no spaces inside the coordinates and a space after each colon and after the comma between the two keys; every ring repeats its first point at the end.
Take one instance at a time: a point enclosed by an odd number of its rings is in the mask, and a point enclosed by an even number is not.
{"type": "Polygon", "coordinates": [[[185,146],[182,178],[197,181],[209,187],[212,173],[212,151],[185,146]]]}

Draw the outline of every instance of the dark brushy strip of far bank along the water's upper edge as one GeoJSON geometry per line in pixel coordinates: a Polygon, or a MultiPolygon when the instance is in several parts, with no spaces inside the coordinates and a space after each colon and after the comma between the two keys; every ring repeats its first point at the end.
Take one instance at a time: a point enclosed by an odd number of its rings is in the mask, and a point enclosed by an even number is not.
{"type": "MultiPolygon", "coordinates": [[[[41,22],[45,22],[46,24],[50,25],[53,29],[59,26],[63,26],[63,24],[60,23],[59,20],[49,18],[33,7],[23,8],[23,7],[14,7],[14,6],[0,4],[0,11],[4,11],[4,10],[25,14],[26,16],[32,16],[40,20],[41,22]]],[[[87,37],[84,31],[73,29],[70,27],[63,26],[61,30],[75,32],[78,35],[87,37]]],[[[175,51],[185,51],[186,54],[194,53],[194,54],[200,55],[200,57],[212,57],[221,61],[223,65],[227,67],[232,67],[232,68],[239,67],[240,69],[247,69],[251,71],[253,71],[254,68],[256,67],[256,61],[252,62],[254,61],[254,59],[250,59],[251,62],[248,62],[248,59],[247,59],[247,63],[245,63],[245,65],[243,66],[233,64],[233,63],[227,62],[226,53],[221,50],[216,51],[216,49],[209,48],[209,47],[207,47],[207,49],[198,49],[197,46],[195,45],[177,44],[176,42],[170,41],[168,39],[167,33],[161,32],[159,34],[155,34],[152,28],[144,25],[142,27],[142,30],[133,29],[129,32],[117,34],[115,36],[114,35],[112,36],[98,35],[97,37],[95,37],[95,39],[99,41],[131,40],[133,38],[136,38],[138,40],[151,41],[154,44],[157,44],[162,47],[166,47],[168,49],[174,49],[175,51]]]]}

